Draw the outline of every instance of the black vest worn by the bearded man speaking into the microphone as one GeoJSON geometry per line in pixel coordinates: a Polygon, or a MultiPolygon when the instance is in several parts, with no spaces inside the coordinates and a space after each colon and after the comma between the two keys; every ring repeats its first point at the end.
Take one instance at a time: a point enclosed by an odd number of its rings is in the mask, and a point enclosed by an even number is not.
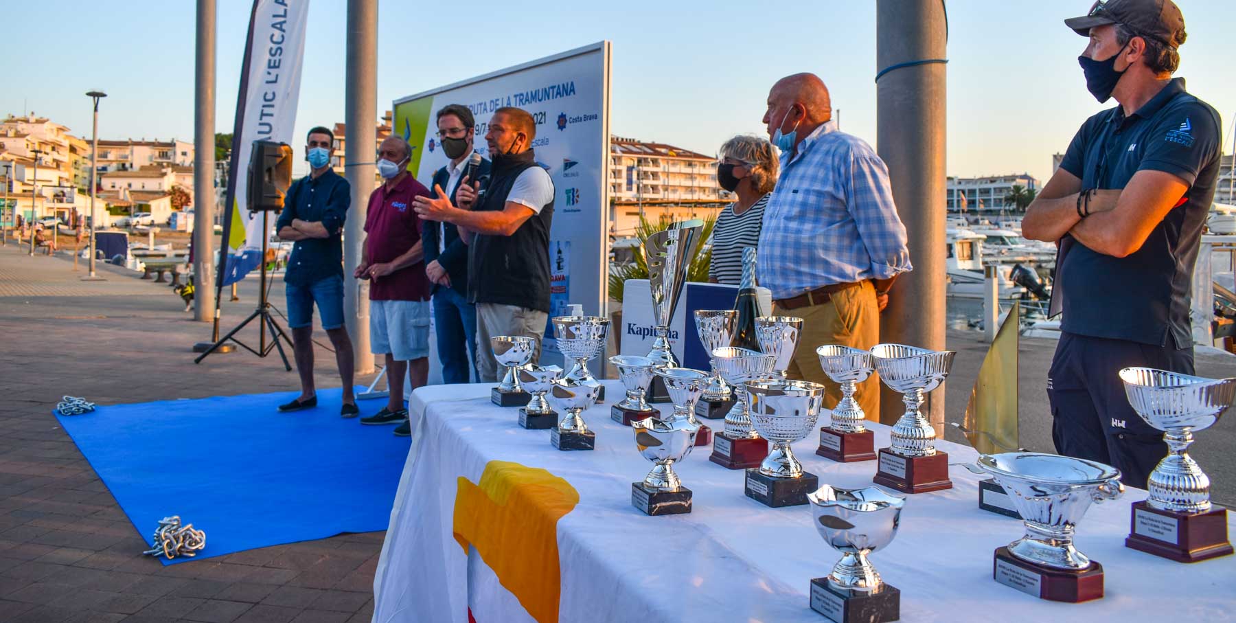
{"type": "MultiPolygon", "coordinates": [[[[515,179],[536,167],[533,150],[493,159],[489,184],[473,210],[502,210],[515,179]]],[[[477,235],[468,246],[468,302],[549,313],[549,227],[554,201],[509,236],[477,235]]]]}

